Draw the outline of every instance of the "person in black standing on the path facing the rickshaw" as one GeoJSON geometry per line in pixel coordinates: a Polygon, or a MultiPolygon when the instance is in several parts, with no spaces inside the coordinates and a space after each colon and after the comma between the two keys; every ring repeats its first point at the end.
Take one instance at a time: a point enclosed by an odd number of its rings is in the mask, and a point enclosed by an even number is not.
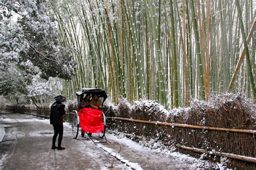
{"type": "Polygon", "coordinates": [[[54,98],[56,102],[54,102],[51,105],[51,114],[50,114],[50,124],[53,126],[54,134],[52,137],[52,150],[64,150],[65,147],[62,147],[62,137],[63,137],[63,118],[62,115],[65,114],[65,105],[63,102],[66,101],[66,97],[59,95],[54,98]],[[57,139],[57,136],[59,135],[58,138],[58,146],[56,147],[55,142],[57,139]]]}

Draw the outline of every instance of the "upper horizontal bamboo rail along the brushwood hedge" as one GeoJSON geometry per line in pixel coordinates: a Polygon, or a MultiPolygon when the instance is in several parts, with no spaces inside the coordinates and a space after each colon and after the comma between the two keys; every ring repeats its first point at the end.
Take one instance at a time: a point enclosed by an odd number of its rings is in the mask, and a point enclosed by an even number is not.
{"type": "Polygon", "coordinates": [[[210,126],[197,126],[197,125],[187,125],[187,124],[177,124],[177,123],[142,121],[142,120],[139,120],[139,119],[129,119],[129,118],[122,118],[122,117],[106,117],[106,118],[108,118],[108,119],[117,119],[117,120],[120,120],[120,121],[147,123],[147,124],[164,125],[164,126],[174,126],[174,127],[181,127],[181,128],[206,129],[206,130],[239,132],[239,133],[252,133],[252,134],[256,133],[256,130],[227,129],[227,128],[215,128],[215,127],[210,127],[210,126]]]}

